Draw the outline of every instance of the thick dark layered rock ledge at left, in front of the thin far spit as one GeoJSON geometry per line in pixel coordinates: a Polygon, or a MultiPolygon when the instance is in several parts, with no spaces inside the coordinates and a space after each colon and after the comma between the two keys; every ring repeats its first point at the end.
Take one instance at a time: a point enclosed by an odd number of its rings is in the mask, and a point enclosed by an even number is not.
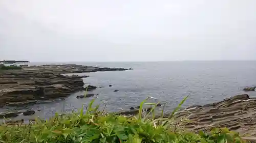
{"type": "Polygon", "coordinates": [[[49,72],[0,73],[0,104],[24,104],[39,99],[68,96],[84,90],[83,85],[83,80],[79,77],[49,72]]]}

